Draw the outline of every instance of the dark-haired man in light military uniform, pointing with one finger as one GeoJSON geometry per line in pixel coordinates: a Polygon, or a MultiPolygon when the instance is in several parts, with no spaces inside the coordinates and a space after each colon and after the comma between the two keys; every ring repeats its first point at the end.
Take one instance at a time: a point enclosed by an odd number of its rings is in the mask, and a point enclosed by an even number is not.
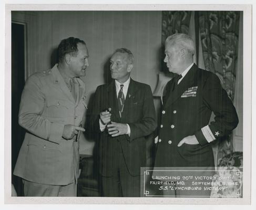
{"type": "Polygon", "coordinates": [[[23,178],[25,196],[76,196],[79,134],[86,109],[88,50],[69,37],[58,46],[59,62],[26,81],[19,124],[27,130],[14,175],[23,178]]]}

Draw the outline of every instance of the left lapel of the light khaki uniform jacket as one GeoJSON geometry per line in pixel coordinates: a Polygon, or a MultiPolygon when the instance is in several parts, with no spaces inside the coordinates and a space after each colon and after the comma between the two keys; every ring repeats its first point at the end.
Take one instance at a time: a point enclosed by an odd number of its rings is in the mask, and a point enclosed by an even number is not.
{"type": "Polygon", "coordinates": [[[70,101],[73,101],[75,103],[75,99],[74,97],[72,96],[71,92],[69,91],[63,77],[60,75],[59,73],[59,70],[57,68],[57,66],[55,65],[53,68],[52,68],[52,74],[53,74],[53,77],[54,77],[54,83],[60,88],[62,89],[62,91],[64,92],[64,94],[67,96],[67,98],[70,100],[70,101]]]}

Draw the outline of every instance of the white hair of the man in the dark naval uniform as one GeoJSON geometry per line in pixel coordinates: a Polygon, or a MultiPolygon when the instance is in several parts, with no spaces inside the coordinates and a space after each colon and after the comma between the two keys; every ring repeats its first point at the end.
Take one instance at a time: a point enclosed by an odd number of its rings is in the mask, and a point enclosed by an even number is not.
{"type": "Polygon", "coordinates": [[[185,48],[188,53],[194,55],[194,43],[192,38],[187,34],[173,34],[168,36],[165,44],[172,42],[177,48],[185,48]]]}

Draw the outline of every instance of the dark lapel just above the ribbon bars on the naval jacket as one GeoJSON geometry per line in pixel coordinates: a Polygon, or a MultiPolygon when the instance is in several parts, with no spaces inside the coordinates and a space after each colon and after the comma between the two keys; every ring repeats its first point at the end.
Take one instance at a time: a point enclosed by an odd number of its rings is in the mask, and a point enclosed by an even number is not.
{"type": "Polygon", "coordinates": [[[173,92],[168,91],[169,96],[167,96],[167,101],[165,103],[165,107],[170,106],[173,102],[179,99],[182,93],[188,88],[194,85],[194,75],[196,74],[197,66],[193,65],[191,69],[188,71],[187,75],[181,80],[179,85],[173,92]]]}

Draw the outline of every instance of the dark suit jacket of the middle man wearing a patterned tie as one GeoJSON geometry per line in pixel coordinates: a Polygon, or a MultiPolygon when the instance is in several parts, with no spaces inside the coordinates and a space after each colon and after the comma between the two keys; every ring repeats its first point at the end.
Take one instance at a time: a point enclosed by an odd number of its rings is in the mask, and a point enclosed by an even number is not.
{"type": "Polygon", "coordinates": [[[110,85],[97,87],[93,107],[93,128],[99,134],[99,169],[105,176],[111,176],[116,163],[116,150],[121,146],[125,162],[131,175],[139,175],[140,167],[146,166],[145,137],[156,129],[156,113],[150,86],[130,80],[122,117],[119,117],[115,81],[110,85]],[[111,108],[111,121],[128,123],[129,135],[111,137],[106,129],[99,130],[99,113],[111,108]]]}

